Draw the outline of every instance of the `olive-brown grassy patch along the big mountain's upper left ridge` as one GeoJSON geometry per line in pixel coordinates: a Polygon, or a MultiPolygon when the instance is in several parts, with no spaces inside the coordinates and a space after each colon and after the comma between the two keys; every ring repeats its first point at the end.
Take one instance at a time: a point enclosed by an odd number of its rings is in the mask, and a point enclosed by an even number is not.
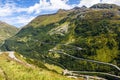
{"type": "Polygon", "coordinates": [[[67,16],[67,14],[68,13],[66,11],[63,11],[63,12],[58,12],[57,14],[38,16],[27,26],[34,26],[34,27],[43,26],[43,25],[45,26],[62,20],[67,16]]]}

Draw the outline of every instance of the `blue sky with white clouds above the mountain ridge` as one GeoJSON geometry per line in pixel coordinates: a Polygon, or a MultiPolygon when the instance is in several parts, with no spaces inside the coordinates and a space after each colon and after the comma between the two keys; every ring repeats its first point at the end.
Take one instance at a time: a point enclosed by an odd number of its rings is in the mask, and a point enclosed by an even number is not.
{"type": "Polygon", "coordinates": [[[38,15],[97,3],[120,5],[120,0],[0,0],[0,21],[23,27],[38,15]]]}

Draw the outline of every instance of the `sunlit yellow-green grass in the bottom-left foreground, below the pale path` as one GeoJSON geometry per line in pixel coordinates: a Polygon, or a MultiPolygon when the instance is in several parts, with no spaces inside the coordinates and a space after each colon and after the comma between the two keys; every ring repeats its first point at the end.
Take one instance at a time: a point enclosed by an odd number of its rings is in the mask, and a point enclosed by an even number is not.
{"type": "MultiPolygon", "coordinates": [[[[52,69],[59,69],[54,65],[45,65],[52,69]]],[[[26,67],[10,59],[6,54],[0,55],[0,67],[5,71],[8,80],[73,80],[42,68],[26,67]]],[[[0,80],[4,80],[4,76],[1,72],[0,80]]]]}

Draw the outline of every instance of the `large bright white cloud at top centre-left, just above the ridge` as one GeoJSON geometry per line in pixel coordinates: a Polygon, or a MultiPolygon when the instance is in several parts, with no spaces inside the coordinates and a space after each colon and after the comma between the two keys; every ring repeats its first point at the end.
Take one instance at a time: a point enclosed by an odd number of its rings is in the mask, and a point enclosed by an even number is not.
{"type": "Polygon", "coordinates": [[[42,10],[58,10],[58,9],[70,9],[74,7],[73,5],[68,5],[67,2],[69,0],[50,0],[49,2],[47,0],[40,0],[39,3],[36,3],[35,5],[28,8],[28,13],[40,13],[42,10]]]}

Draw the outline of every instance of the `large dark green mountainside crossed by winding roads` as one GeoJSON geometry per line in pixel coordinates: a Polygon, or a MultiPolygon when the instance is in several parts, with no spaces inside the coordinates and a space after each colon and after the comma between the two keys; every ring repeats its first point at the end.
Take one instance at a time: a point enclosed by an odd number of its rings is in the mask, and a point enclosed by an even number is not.
{"type": "Polygon", "coordinates": [[[120,10],[116,7],[74,8],[38,16],[16,36],[6,40],[2,49],[14,50],[38,60],[51,59],[69,70],[119,75],[114,67],[76,60],[49,50],[61,50],[76,57],[109,62],[120,67],[120,10]]]}

